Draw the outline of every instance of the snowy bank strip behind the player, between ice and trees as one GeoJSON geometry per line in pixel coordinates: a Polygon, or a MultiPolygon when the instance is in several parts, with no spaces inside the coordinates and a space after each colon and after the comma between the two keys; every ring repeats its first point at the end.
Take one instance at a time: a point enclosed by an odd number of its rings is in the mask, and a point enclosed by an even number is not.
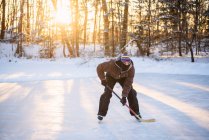
{"type": "MultiPolygon", "coordinates": [[[[209,75],[208,63],[156,61],[133,57],[136,73],[209,75]]],[[[0,82],[96,77],[96,67],[107,58],[0,60],[0,82]]]]}

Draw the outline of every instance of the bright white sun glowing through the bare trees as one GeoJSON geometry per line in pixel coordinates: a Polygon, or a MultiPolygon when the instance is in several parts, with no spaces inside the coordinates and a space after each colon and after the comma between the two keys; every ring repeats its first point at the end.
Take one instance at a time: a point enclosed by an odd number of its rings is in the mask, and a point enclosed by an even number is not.
{"type": "Polygon", "coordinates": [[[71,23],[70,4],[68,0],[57,3],[57,10],[54,13],[55,22],[58,24],[71,23]]]}

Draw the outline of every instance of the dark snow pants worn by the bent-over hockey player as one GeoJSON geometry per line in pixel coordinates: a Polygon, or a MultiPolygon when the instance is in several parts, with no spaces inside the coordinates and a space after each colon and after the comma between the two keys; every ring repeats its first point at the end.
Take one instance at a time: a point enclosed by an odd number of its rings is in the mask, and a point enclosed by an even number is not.
{"type": "MultiPolygon", "coordinates": [[[[114,88],[116,82],[118,82],[123,87],[125,81],[125,78],[114,79],[111,76],[106,76],[106,79],[107,79],[107,85],[111,89],[114,88]]],[[[128,103],[129,103],[129,107],[136,114],[139,114],[139,105],[136,94],[137,94],[136,91],[132,88],[128,94],[128,103]]],[[[98,115],[106,116],[111,97],[112,97],[112,91],[109,90],[107,87],[105,87],[104,93],[100,97],[98,115]]],[[[133,115],[131,112],[130,114],[133,115]]]]}

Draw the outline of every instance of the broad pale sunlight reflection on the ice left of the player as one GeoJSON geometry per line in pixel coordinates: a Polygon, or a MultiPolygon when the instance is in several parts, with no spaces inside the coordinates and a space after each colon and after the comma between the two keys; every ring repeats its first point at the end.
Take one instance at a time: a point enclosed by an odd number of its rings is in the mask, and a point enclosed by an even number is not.
{"type": "Polygon", "coordinates": [[[64,121],[64,84],[61,80],[48,80],[41,82],[42,93],[35,94],[35,102],[31,124],[36,133],[33,139],[43,139],[47,133],[47,139],[53,140],[63,129],[64,121]],[[38,134],[37,134],[38,133],[38,134]]]}

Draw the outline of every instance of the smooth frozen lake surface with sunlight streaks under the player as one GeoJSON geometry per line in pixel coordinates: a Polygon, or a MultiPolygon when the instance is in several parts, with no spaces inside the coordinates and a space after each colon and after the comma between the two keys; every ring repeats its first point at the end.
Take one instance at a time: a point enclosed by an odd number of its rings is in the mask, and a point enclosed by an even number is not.
{"type": "MultiPolygon", "coordinates": [[[[101,124],[96,77],[0,83],[1,140],[208,140],[209,76],[136,74],[139,123],[113,95],[101,124]]],[[[121,95],[117,84],[115,92],[121,95]]]]}

